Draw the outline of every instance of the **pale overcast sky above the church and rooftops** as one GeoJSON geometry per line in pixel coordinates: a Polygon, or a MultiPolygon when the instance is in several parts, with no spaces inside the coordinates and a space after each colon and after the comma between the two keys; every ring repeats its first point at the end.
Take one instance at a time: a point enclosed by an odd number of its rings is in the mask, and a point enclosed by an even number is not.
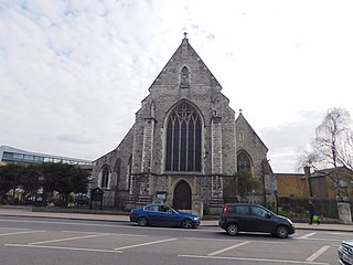
{"type": "Polygon", "coordinates": [[[97,159],[188,32],[231,107],[296,172],[329,108],[353,114],[353,1],[0,0],[0,145],[97,159]]]}

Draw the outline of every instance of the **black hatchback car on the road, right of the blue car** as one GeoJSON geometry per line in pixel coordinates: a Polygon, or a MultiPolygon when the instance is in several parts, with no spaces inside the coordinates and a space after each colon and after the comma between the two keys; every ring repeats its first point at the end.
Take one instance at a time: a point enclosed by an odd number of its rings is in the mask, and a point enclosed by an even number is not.
{"type": "Polygon", "coordinates": [[[238,232],[261,232],[286,239],[296,232],[293,223],[288,218],[252,203],[225,204],[220,216],[220,226],[229,235],[236,235],[238,232]]]}

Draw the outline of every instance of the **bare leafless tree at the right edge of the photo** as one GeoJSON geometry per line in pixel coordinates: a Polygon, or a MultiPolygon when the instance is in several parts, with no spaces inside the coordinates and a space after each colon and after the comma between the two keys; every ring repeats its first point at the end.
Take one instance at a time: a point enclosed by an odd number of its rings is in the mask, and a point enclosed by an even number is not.
{"type": "Polygon", "coordinates": [[[338,198],[347,197],[347,188],[353,170],[352,120],[347,110],[328,110],[321,125],[315,129],[315,138],[308,150],[299,158],[301,166],[310,166],[332,180],[332,189],[338,198]],[[333,170],[324,170],[331,168],[333,170]],[[345,169],[343,173],[341,168],[345,169]]]}

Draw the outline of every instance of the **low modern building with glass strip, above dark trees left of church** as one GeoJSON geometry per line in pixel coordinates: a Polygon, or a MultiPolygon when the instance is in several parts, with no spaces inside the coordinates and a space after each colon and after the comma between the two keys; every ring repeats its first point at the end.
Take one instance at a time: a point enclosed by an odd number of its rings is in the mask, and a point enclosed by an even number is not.
{"type": "Polygon", "coordinates": [[[21,162],[21,163],[42,163],[42,162],[61,162],[78,166],[93,166],[92,161],[60,157],[53,155],[44,155],[20,150],[9,146],[0,147],[0,162],[21,162]]]}

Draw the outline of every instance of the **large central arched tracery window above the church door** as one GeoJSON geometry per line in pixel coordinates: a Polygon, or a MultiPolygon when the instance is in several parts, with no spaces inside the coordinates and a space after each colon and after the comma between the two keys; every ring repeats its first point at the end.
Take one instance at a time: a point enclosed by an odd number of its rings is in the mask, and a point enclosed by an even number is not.
{"type": "Polygon", "coordinates": [[[201,118],[188,103],[178,105],[167,123],[165,171],[201,171],[201,118]]]}

